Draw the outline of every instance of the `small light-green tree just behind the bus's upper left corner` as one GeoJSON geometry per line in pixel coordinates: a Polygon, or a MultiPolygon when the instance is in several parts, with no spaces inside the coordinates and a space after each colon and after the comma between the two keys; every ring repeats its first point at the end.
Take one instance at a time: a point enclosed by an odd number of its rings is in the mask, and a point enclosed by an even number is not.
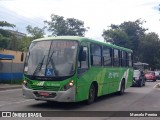
{"type": "Polygon", "coordinates": [[[28,25],[26,27],[28,34],[30,34],[33,39],[44,37],[45,35],[44,29],[45,27],[39,28],[39,27],[32,27],[31,25],[28,25]]]}

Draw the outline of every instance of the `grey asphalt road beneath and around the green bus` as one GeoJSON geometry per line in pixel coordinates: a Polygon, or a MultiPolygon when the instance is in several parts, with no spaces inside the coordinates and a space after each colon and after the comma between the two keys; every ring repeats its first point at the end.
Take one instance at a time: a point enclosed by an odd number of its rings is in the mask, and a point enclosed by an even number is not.
{"type": "MultiPolygon", "coordinates": [[[[159,81],[158,81],[159,82],[159,81]]],[[[80,103],[47,103],[45,101],[36,101],[24,99],[21,89],[0,91],[0,111],[160,111],[160,88],[153,88],[158,82],[146,82],[145,87],[130,87],[126,89],[125,94],[118,96],[115,94],[98,98],[91,105],[80,103]]],[[[74,113],[73,113],[74,114],[74,113]]],[[[43,118],[47,120],[75,120],[74,117],[54,117],[43,118]]],[[[0,118],[0,120],[8,118],[0,118]]],[[[10,118],[11,119],[11,118],[10,118]]],[[[17,120],[17,118],[12,118],[17,120]]],[[[27,118],[23,118],[27,119],[27,118]]],[[[29,118],[31,119],[31,118],[29,118]]],[[[35,120],[35,118],[33,118],[35,120]]],[[[39,119],[39,118],[37,118],[39,119]]],[[[76,117],[76,119],[84,119],[76,117]]],[[[147,119],[150,117],[86,117],[87,120],[134,120],[147,119]]],[[[159,120],[160,118],[154,117],[159,120]]]]}

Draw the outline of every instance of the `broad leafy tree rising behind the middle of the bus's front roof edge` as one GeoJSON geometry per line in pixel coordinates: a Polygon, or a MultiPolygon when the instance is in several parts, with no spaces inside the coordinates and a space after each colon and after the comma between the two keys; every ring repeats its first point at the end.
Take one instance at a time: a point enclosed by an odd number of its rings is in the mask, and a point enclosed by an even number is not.
{"type": "Polygon", "coordinates": [[[84,27],[84,22],[74,18],[64,19],[63,16],[51,14],[51,21],[44,21],[48,31],[54,36],[73,35],[84,36],[89,28],[84,27]]]}

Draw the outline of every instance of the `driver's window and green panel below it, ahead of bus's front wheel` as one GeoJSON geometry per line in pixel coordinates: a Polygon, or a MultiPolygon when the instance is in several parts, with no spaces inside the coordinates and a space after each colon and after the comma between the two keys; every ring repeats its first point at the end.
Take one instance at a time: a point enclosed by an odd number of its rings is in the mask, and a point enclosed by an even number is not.
{"type": "Polygon", "coordinates": [[[85,100],[88,98],[88,82],[89,82],[89,50],[88,43],[83,42],[80,46],[78,56],[77,70],[77,94],[76,101],[85,100]]]}

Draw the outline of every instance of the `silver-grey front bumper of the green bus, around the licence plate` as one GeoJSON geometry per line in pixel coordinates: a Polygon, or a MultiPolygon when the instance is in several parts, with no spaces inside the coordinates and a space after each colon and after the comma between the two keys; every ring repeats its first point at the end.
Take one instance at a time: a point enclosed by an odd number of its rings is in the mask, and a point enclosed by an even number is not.
{"type": "Polygon", "coordinates": [[[23,96],[28,99],[57,101],[57,102],[75,102],[75,86],[66,91],[44,91],[32,90],[22,85],[23,96]],[[49,96],[39,95],[40,92],[49,94],[49,96]]]}

